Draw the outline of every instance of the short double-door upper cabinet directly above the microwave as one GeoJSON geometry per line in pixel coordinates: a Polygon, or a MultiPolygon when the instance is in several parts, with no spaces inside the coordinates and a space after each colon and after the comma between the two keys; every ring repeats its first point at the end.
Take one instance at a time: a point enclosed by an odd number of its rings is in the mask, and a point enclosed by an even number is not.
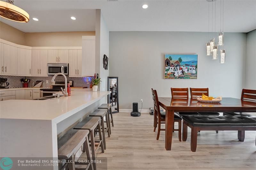
{"type": "Polygon", "coordinates": [[[68,50],[48,50],[48,63],[68,63],[68,50]]]}

